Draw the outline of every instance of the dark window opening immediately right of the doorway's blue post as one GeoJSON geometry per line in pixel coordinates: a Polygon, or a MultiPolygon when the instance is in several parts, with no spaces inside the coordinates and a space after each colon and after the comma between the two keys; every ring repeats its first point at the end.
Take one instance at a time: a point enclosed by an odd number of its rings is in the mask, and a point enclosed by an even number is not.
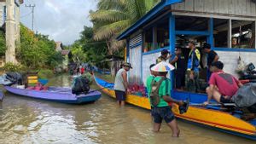
{"type": "Polygon", "coordinates": [[[229,20],[213,19],[213,38],[215,48],[228,48],[229,20]]]}

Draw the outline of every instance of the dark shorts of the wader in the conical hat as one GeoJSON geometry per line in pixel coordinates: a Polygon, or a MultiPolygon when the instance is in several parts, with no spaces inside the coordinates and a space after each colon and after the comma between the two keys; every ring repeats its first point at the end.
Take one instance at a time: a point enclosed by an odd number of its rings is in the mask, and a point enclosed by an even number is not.
{"type": "Polygon", "coordinates": [[[175,118],[171,107],[153,107],[151,115],[154,118],[154,123],[157,124],[161,124],[163,119],[168,124],[175,118]]]}

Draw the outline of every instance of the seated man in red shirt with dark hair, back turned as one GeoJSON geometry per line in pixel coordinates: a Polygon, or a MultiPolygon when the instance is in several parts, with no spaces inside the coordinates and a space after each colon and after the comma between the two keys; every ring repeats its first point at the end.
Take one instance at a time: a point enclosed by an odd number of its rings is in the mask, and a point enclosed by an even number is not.
{"type": "Polygon", "coordinates": [[[209,87],[207,87],[207,101],[205,105],[209,104],[213,98],[218,103],[230,103],[230,99],[236,94],[236,91],[242,84],[229,73],[223,71],[224,64],[221,61],[212,63],[212,75],[209,80],[209,87]]]}

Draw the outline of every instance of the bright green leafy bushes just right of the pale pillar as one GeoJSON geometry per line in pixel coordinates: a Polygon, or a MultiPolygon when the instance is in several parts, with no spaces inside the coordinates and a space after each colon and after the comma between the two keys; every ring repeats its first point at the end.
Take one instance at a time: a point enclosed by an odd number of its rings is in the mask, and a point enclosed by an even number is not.
{"type": "Polygon", "coordinates": [[[58,65],[62,56],[55,51],[55,42],[48,36],[34,34],[26,26],[20,26],[20,46],[17,59],[24,66],[31,68],[52,68],[58,65]]]}

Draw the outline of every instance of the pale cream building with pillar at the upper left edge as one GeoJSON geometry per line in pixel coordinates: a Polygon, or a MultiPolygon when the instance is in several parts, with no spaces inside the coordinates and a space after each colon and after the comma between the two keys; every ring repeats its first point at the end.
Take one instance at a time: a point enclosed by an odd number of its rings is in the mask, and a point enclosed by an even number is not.
{"type": "Polygon", "coordinates": [[[0,0],[0,26],[5,32],[6,37],[6,53],[0,61],[1,66],[5,62],[16,63],[15,49],[20,44],[20,4],[23,0],[0,0]]]}

